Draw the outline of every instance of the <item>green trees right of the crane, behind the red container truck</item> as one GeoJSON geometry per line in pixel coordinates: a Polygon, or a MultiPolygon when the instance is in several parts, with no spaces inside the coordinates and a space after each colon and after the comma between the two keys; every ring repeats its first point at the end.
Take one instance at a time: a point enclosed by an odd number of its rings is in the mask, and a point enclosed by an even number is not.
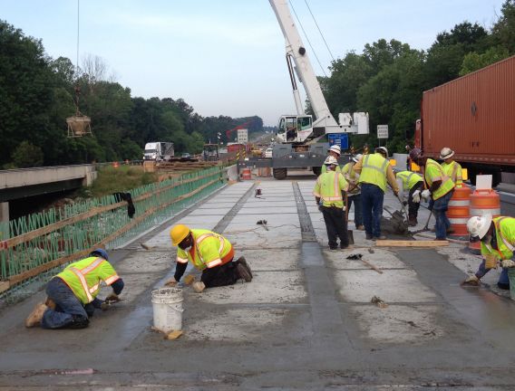
{"type": "MultiPolygon", "coordinates": [[[[515,54],[515,0],[506,0],[490,29],[463,22],[437,34],[432,46],[415,50],[381,39],[362,53],[347,52],[332,62],[331,75],[319,78],[332,112],[367,111],[370,135],[352,136],[355,148],[377,146],[377,125],[388,124],[387,147],[403,152],[413,140],[427,91],[515,54]]],[[[383,142],[384,144],[384,142],[383,142]]]]}

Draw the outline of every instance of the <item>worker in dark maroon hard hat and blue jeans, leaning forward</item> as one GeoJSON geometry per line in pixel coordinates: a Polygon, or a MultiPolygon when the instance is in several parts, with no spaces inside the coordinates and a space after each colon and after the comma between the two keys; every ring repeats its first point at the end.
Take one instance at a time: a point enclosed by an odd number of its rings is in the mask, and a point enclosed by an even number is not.
{"type": "Polygon", "coordinates": [[[442,166],[429,157],[424,157],[420,148],[413,148],[410,151],[410,158],[415,164],[424,167],[423,179],[425,190],[422,192],[424,199],[432,199],[432,213],[436,219],[435,233],[436,240],[445,240],[447,234],[451,233],[451,222],[445,215],[449,208],[449,201],[454,193],[452,179],[445,175],[442,166]]]}

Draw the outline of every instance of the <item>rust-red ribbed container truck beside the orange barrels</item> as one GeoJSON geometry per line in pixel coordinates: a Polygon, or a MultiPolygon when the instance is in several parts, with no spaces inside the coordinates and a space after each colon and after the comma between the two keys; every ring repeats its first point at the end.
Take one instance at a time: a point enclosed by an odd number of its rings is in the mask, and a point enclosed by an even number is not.
{"type": "Polygon", "coordinates": [[[472,184],[515,172],[515,56],[424,91],[415,146],[434,158],[452,148],[472,184]]]}

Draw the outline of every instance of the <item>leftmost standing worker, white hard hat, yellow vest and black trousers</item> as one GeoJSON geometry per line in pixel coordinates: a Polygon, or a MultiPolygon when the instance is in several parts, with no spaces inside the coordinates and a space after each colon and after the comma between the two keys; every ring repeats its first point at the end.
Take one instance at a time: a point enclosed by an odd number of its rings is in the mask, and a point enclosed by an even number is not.
{"type": "Polygon", "coordinates": [[[338,248],[336,237],[339,237],[340,248],[345,249],[349,246],[349,238],[342,191],[347,191],[348,183],[341,173],[336,172],[338,161],[335,157],[327,157],[324,165],[327,170],[316,179],[313,196],[315,196],[316,205],[324,215],[329,248],[331,250],[338,248]]]}

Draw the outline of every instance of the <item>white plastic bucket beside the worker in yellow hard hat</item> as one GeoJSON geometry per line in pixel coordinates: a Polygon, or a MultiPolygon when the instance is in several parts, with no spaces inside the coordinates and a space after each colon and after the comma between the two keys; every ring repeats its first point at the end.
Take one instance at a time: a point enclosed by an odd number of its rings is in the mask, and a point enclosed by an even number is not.
{"type": "Polygon", "coordinates": [[[163,332],[182,329],[182,290],[161,288],[152,291],[154,327],[163,332]]]}

